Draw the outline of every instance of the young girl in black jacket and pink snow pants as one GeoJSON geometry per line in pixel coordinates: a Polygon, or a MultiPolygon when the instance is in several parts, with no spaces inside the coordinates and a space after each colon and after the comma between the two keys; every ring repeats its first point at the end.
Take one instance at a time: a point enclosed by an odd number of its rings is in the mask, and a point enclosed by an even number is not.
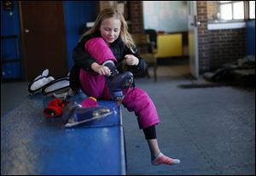
{"type": "MultiPolygon", "coordinates": [[[[73,50],[75,65],[70,74],[71,88],[81,88],[84,94],[100,99],[113,99],[108,88],[108,78],[122,74],[123,62],[129,71],[145,71],[146,63],[135,49],[135,44],[128,32],[128,27],[122,14],[116,9],[103,9],[97,16],[95,25],[86,31],[73,50]],[[119,65],[117,68],[115,65],[119,65]],[[107,78],[107,79],[106,79],[107,78]]],[[[137,115],[139,128],[143,128],[145,139],[151,153],[153,165],[178,164],[178,159],[172,159],[161,153],[155,125],[159,121],[153,101],[140,88],[129,88],[122,104],[137,115]]]]}

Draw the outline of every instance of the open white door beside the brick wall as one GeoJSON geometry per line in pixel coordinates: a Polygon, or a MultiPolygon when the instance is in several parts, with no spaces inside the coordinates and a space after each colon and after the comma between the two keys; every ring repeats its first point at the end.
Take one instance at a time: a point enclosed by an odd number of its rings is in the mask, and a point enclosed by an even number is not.
{"type": "Polygon", "coordinates": [[[188,1],[188,14],[189,70],[191,75],[197,79],[199,77],[197,26],[200,22],[197,21],[196,1],[188,1]]]}

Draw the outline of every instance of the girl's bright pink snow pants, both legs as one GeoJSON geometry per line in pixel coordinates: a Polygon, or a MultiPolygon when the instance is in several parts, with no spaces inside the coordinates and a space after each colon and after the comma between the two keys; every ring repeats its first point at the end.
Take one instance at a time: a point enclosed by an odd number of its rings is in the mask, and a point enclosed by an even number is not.
{"type": "MultiPolygon", "coordinates": [[[[90,39],[85,43],[84,48],[96,59],[98,64],[102,64],[107,60],[117,62],[102,37],[90,39]]],[[[87,96],[93,96],[96,99],[112,99],[108,91],[105,76],[93,74],[81,69],[79,80],[81,89],[87,96]]],[[[128,111],[135,112],[139,128],[148,128],[160,122],[153,101],[141,88],[129,88],[122,104],[128,111]]]]}

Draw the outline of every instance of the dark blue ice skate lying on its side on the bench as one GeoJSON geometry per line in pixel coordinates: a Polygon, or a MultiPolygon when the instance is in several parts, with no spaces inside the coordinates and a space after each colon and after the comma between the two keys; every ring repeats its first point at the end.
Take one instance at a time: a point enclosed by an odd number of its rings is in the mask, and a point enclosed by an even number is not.
{"type": "Polygon", "coordinates": [[[62,121],[66,128],[71,128],[83,123],[102,119],[112,112],[104,106],[81,107],[76,103],[70,102],[63,111],[62,121]]]}

